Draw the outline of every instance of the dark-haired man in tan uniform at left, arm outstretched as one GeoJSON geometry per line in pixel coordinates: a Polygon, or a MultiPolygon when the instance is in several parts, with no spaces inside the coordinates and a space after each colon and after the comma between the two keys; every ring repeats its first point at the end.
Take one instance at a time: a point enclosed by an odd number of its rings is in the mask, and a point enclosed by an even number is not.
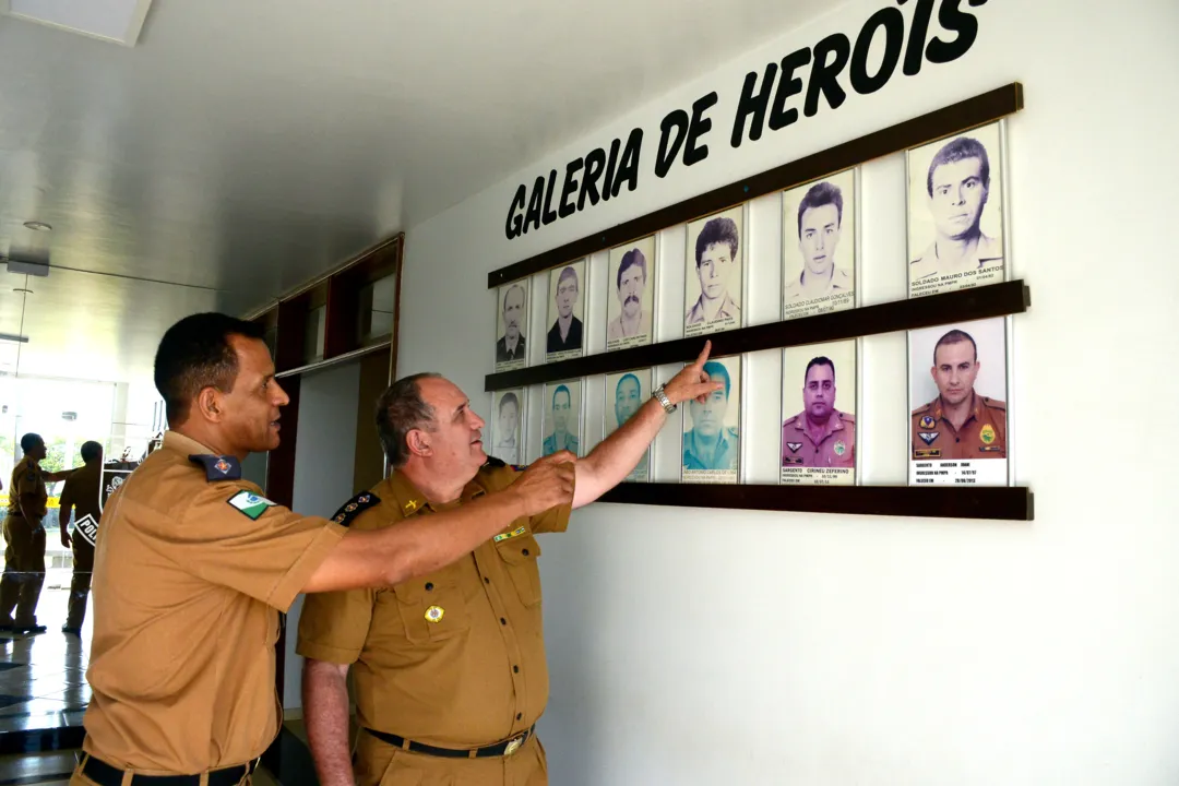
{"type": "Polygon", "coordinates": [[[246,455],[278,445],[289,402],[262,336],[200,313],[160,342],[156,387],[172,430],[103,510],[93,699],[74,786],[246,782],[278,733],[278,612],[296,594],[401,583],[572,501],[564,455],[461,510],[380,531],[275,504],[241,476],[246,455]]]}

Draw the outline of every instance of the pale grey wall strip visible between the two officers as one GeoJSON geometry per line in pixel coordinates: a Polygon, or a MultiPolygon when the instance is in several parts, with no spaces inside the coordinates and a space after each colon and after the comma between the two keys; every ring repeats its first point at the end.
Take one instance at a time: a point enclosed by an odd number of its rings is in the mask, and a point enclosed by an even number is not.
{"type": "MultiPolygon", "coordinates": [[[[330,516],[353,496],[356,454],[356,397],[360,363],[345,363],[303,377],[298,401],[298,440],[295,442],[295,510],[330,516]]],[[[295,654],[299,595],[286,615],[286,671],[283,708],[303,706],[299,682],[303,659],[295,654]]]]}

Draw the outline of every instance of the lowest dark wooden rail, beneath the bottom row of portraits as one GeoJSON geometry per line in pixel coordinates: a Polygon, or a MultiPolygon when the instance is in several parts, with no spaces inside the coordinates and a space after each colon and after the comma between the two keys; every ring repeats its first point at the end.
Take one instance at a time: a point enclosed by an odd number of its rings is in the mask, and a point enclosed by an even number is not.
{"type": "Polygon", "coordinates": [[[859,516],[1033,521],[1032,490],[983,486],[620,483],[601,502],[859,516]]]}

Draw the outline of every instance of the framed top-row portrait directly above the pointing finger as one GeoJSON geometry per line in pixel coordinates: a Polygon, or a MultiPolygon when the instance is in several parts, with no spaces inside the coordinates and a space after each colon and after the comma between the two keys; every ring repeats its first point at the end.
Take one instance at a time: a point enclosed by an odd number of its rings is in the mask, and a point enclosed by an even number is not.
{"type": "Polygon", "coordinates": [[[745,271],[745,206],[687,225],[684,337],[740,328],[745,271]]]}

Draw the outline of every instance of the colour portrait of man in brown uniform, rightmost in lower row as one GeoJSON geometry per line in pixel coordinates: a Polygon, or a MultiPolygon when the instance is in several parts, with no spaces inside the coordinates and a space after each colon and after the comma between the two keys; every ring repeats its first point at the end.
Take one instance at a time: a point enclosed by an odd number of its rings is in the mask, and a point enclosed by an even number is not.
{"type": "Polygon", "coordinates": [[[909,333],[909,484],[1007,486],[1007,319],[909,333]]]}

